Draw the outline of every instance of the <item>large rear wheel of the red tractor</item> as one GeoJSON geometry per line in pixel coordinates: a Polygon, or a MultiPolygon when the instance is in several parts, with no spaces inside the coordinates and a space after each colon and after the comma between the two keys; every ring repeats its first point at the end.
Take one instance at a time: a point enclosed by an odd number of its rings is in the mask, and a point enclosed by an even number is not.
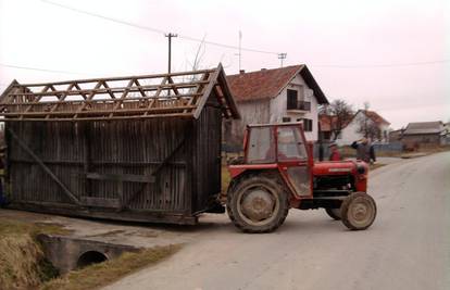
{"type": "Polygon", "coordinates": [[[288,194],[276,175],[242,177],[227,193],[228,216],[246,232],[275,230],[285,222],[288,211],[288,194]]]}

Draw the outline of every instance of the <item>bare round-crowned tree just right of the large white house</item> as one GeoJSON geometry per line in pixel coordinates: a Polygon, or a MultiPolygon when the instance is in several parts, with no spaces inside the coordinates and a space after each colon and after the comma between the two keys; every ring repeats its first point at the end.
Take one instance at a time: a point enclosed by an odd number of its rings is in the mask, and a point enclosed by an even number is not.
{"type": "Polygon", "coordinates": [[[354,111],[351,104],[342,99],[334,100],[330,104],[320,109],[320,114],[324,115],[329,122],[330,138],[336,140],[342,129],[352,119],[354,111]]]}

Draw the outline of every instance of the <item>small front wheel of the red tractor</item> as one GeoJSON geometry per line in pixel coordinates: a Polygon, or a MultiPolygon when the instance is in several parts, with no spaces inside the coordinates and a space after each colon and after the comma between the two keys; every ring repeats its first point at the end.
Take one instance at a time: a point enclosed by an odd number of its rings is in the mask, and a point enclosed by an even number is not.
{"type": "Polygon", "coordinates": [[[340,206],[343,225],[352,230],[368,228],[376,217],[374,199],[364,192],[354,192],[348,196],[340,206]]]}

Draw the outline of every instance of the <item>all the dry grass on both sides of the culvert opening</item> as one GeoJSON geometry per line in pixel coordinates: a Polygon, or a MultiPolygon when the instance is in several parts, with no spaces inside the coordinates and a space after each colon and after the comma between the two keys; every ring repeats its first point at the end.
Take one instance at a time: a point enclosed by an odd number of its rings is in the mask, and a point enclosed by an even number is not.
{"type": "Polygon", "coordinates": [[[36,241],[39,234],[66,235],[54,224],[34,224],[3,218],[0,220],[0,289],[97,289],[137,269],[152,265],[180,249],[157,247],[138,253],[124,253],[116,260],[92,265],[54,278],[58,272],[43,256],[36,241]],[[54,278],[50,280],[51,278],[54,278]]]}

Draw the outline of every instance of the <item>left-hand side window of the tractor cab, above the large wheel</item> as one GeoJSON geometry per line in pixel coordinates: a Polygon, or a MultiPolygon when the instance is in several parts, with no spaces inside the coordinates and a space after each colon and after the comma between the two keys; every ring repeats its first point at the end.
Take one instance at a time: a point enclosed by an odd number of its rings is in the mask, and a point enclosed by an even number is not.
{"type": "Polygon", "coordinates": [[[274,163],[275,141],[273,127],[251,128],[247,150],[248,163],[274,163]]]}

